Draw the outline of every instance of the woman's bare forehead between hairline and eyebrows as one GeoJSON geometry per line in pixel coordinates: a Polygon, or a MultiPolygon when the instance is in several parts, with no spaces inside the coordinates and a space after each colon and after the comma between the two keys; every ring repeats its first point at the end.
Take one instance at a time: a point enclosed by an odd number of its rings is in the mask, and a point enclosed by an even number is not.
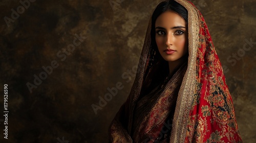
{"type": "Polygon", "coordinates": [[[186,26],[185,20],[177,13],[173,11],[166,11],[160,14],[157,19],[155,26],[161,27],[175,27],[175,26],[186,26]]]}

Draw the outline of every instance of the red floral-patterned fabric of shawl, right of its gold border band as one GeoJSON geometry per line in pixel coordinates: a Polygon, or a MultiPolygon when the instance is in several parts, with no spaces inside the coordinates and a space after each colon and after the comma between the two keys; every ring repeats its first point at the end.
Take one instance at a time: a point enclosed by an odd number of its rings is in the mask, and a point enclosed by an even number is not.
{"type": "Polygon", "coordinates": [[[197,52],[197,90],[185,142],[242,142],[221,63],[202,14],[197,52]]]}

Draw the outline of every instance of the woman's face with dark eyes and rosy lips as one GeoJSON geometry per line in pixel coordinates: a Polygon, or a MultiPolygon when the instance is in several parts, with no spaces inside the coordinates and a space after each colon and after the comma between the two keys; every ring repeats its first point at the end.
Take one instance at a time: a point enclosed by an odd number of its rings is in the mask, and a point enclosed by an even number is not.
{"type": "Polygon", "coordinates": [[[164,60],[174,62],[188,52],[185,20],[173,11],[166,11],[156,19],[156,43],[164,60]]]}

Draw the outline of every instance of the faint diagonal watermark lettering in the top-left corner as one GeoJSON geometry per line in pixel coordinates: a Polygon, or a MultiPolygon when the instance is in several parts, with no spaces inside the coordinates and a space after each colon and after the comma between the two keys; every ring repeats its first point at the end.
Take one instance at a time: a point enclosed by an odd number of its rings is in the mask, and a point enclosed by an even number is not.
{"type": "Polygon", "coordinates": [[[28,9],[30,7],[30,2],[34,3],[35,1],[36,0],[25,0],[25,1],[20,0],[19,3],[22,5],[18,6],[16,11],[14,9],[11,9],[12,11],[11,18],[7,16],[4,17],[6,25],[10,27],[10,23],[17,20],[19,18],[19,14],[23,14],[25,12],[25,8],[28,9]]]}

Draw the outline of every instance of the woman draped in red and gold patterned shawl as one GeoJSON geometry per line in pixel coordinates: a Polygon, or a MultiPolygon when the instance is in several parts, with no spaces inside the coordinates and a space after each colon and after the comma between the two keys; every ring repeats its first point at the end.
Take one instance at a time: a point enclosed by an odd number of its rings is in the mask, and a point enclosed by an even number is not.
{"type": "Polygon", "coordinates": [[[112,142],[242,142],[223,70],[202,14],[161,2],[135,82],[110,126],[112,142]]]}

